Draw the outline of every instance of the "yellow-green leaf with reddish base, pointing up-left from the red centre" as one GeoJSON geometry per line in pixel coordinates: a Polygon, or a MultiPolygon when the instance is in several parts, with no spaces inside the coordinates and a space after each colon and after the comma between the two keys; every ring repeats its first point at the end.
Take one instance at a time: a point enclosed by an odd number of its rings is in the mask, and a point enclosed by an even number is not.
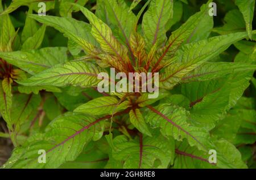
{"type": "Polygon", "coordinates": [[[79,7],[81,12],[86,16],[92,25],[92,35],[100,43],[101,49],[106,53],[110,53],[118,57],[118,59],[125,63],[127,60],[127,49],[122,46],[117,39],[113,36],[112,30],[102,20],[98,19],[87,8],[80,5],[73,4],[79,7]]]}

